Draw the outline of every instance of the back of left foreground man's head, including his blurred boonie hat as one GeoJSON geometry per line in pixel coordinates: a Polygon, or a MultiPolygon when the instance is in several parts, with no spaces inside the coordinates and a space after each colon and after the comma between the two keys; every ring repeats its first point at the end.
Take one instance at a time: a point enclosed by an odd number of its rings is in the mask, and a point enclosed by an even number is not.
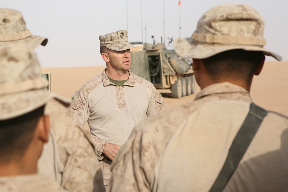
{"type": "Polygon", "coordinates": [[[28,45],[0,46],[0,68],[0,163],[7,163],[28,147],[50,92],[28,45]]]}

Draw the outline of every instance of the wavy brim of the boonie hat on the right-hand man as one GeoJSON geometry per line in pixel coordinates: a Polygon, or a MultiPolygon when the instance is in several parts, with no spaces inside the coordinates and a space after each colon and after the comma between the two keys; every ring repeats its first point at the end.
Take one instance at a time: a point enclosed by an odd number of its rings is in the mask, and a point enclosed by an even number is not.
{"type": "Polygon", "coordinates": [[[261,46],[218,43],[209,44],[195,41],[192,38],[176,38],[174,41],[174,49],[176,53],[183,58],[204,59],[224,51],[242,49],[246,51],[262,51],[264,55],[272,56],[278,61],[282,60],[280,55],[277,55],[261,46]]]}

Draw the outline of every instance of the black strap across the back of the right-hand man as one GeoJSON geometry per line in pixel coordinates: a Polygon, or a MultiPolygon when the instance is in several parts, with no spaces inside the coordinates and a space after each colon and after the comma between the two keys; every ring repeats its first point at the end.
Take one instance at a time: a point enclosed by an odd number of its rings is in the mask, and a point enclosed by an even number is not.
{"type": "Polygon", "coordinates": [[[235,136],[222,170],[209,192],[223,191],[267,113],[268,111],[254,103],[250,104],[250,111],[235,136]]]}

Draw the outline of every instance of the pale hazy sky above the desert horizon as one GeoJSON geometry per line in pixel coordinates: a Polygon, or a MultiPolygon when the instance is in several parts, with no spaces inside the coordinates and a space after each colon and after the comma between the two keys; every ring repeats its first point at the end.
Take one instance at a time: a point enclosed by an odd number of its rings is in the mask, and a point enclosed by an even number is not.
{"type": "MultiPolygon", "coordinates": [[[[130,42],[143,39],[144,42],[152,43],[151,35],[154,35],[156,43],[161,43],[161,36],[165,35],[167,45],[168,38],[190,37],[200,16],[222,3],[245,3],[254,7],[266,22],[265,48],[281,55],[283,60],[288,60],[287,0],[182,0],[180,32],[178,2],[179,0],[2,0],[0,5],[21,11],[27,29],[33,35],[48,37],[45,47],[40,45],[35,49],[43,68],[105,66],[99,51],[98,36],[118,30],[128,29],[130,42]]],[[[173,45],[167,48],[173,49],[173,45]]],[[[266,57],[266,60],[272,61],[274,58],[266,57]]]]}

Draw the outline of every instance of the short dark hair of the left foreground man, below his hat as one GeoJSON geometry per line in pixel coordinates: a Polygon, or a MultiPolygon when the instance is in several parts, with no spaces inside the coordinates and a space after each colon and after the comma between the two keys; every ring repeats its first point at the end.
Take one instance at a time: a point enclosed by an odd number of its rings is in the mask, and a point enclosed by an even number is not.
{"type": "Polygon", "coordinates": [[[29,147],[44,107],[0,121],[0,164],[20,159],[29,147]]]}

